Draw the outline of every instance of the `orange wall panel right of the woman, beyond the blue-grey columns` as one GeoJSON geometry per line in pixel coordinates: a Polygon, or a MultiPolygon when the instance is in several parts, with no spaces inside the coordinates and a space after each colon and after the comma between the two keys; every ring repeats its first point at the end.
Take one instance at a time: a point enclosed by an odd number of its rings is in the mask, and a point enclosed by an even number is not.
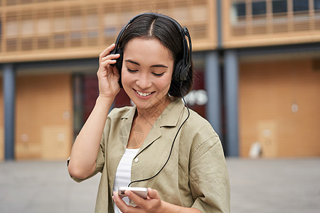
{"type": "Polygon", "coordinates": [[[320,155],[320,70],[312,60],[240,63],[240,155],[320,155]]]}

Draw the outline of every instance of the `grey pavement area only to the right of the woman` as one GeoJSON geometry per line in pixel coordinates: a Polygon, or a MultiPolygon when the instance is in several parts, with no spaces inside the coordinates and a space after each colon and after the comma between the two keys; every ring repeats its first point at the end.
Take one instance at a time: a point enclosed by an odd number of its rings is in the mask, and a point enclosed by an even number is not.
{"type": "Polygon", "coordinates": [[[320,212],[320,158],[227,162],[231,212],[320,212]]]}

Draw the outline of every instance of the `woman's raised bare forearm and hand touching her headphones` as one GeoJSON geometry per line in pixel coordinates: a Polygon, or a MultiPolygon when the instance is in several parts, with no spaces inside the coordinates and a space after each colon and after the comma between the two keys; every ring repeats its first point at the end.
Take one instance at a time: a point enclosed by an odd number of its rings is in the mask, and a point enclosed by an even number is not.
{"type": "Polygon", "coordinates": [[[110,55],[114,44],[100,54],[100,67],[97,71],[100,95],[89,118],[75,139],[71,150],[68,170],[74,178],[87,178],[95,171],[97,153],[107,114],[114,97],[119,92],[119,72],[111,65],[119,58],[119,54],[110,55]]]}

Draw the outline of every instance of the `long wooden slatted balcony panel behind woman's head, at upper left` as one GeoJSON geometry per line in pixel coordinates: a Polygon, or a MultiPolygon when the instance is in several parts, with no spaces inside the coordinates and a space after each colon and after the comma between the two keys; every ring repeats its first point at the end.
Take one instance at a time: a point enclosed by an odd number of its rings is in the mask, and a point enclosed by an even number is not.
{"type": "Polygon", "coordinates": [[[1,6],[0,62],[58,60],[62,52],[67,58],[97,57],[130,18],[145,11],[176,18],[189,28],[193,50],[210,50],[217,45],[214,10],[211,0],[11,1],[1,6]]]}

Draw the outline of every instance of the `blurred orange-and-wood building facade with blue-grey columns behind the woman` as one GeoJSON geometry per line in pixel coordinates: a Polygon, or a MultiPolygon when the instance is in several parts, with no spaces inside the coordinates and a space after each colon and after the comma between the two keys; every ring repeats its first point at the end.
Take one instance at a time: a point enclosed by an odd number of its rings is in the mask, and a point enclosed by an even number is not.
{"type": "MultiPolygon", "coordinates": [[[[191,108],[227,156],[320,155],[320,0],[0,0],[0,160],[68,158],[98,94],[98,55],[137,13],[193,41],[191,108]]],[[[131,104],[121,91],[114,107],[131,104]]]]}

